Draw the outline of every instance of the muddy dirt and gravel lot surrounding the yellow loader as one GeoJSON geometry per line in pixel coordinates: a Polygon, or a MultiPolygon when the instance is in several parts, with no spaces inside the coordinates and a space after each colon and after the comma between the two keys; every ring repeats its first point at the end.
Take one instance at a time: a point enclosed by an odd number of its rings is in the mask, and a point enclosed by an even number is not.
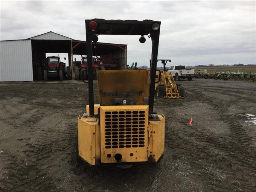
{"type": "Polygon", "coordinates": [[[166,116],[162,161],[129,169],[74,162],[86,84],[0,84],[0,191],[256,191],[256,84],[179,83],[184,99],[155,99],[166,116]]]}

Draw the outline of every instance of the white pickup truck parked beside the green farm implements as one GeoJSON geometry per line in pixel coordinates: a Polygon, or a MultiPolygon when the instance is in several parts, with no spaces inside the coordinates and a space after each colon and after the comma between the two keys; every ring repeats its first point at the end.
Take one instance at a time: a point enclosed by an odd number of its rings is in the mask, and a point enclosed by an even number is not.
{"type": "Polygon", "coordinates": [[[191,81],[193,76],[195,76],[195,70],[186,69],[185,66],[171,66],[168,67],[167,70],[175,77],[175,81],[179,81],[180,79],[187,79],[187,81],[191,81]]]}

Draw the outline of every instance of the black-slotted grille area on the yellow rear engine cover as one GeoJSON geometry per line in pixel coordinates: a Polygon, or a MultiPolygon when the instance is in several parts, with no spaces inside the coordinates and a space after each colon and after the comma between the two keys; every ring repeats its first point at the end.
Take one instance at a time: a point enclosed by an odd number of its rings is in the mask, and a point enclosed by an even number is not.
{"type": "Polygon", "coordinates": [[[146,111],[105,111],[105,148],[145,146],[146,111]]]}

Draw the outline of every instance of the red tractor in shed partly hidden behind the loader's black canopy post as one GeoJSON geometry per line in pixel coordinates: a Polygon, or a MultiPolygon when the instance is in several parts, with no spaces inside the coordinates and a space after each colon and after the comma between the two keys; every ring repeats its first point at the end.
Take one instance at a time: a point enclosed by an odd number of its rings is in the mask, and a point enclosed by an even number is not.
{"type": "MultiPolygon", "coordinates": [[[[98,64],[97,59],[93,58],[93,79],[98,79],[98,64]]],[[[74,71],[75,71],[75,80],[81,80],[82,79],[82,72],[84,69],[88,68],[87,64],[87,56],[82,56],[81,62],[76,61],[73,62],[74,64],[74,71]]],[[[87,70],[84,70],[84,78],[87,80],[87,70]]]]}

